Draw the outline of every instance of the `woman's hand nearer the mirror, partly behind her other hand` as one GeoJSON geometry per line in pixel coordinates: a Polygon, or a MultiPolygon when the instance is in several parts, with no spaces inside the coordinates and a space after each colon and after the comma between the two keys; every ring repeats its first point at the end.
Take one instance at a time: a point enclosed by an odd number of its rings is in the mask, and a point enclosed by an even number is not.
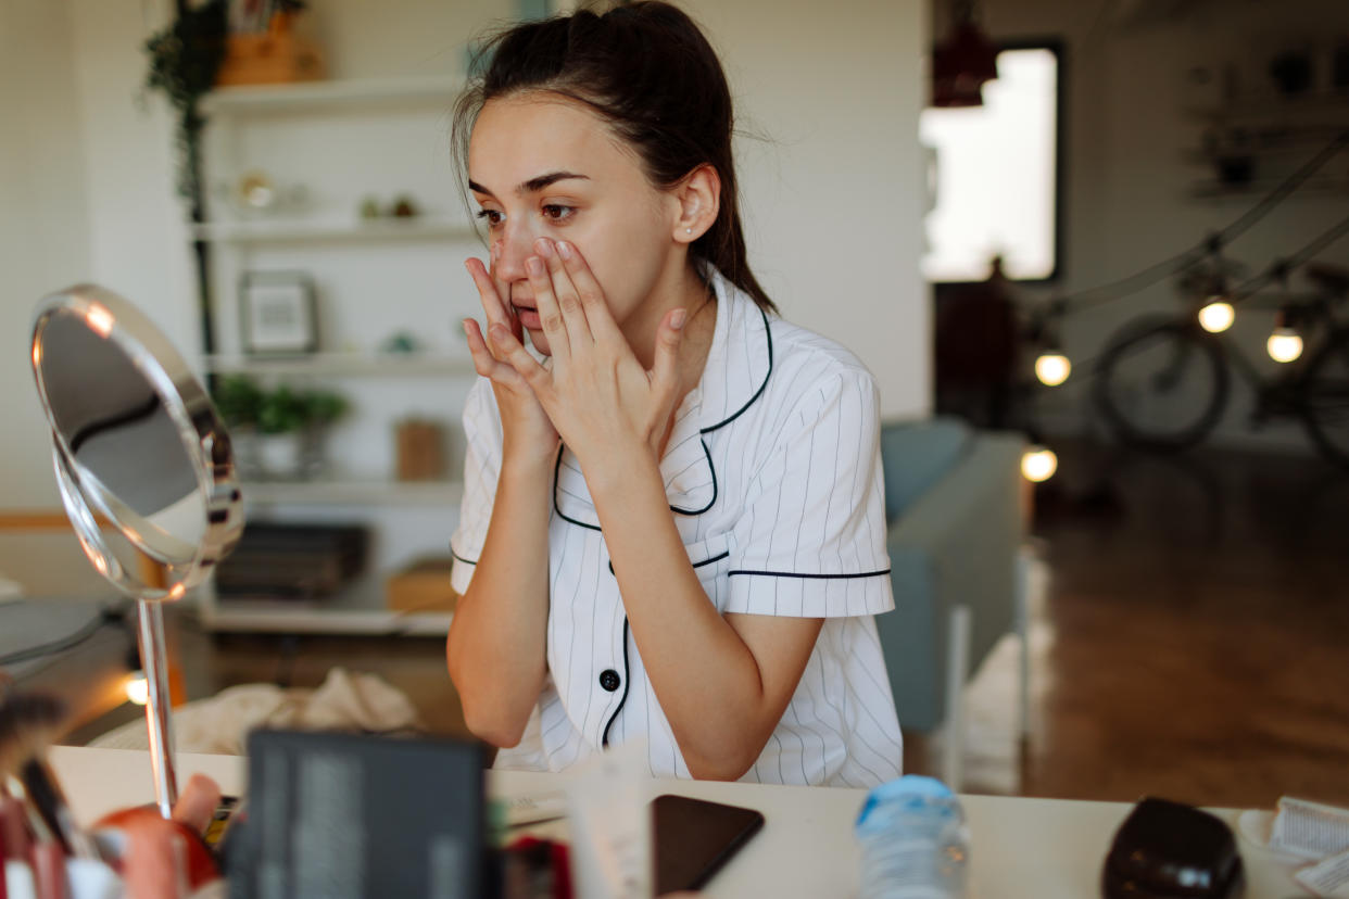
{"type": "MultiPolygon", "coordinates": [[[[492,253],[495,257],[495,247],[492,253]]],[[[488,334],[492,325],[502,325],[515,336],[517,341],[523,341],[525,332],[519,319],[502,299],[506,292],[505,286],[496,283],[480,259],[468,259],[464,267],[478,287],[478,297],[487,315],[488,334]]],[[[534,390],[506,361],[507,350],[494,346],[475,319],[464,319],[464,334],[468,337],[468,350],[473,354],[473,369],[491,380],[492,392],[496,394],[496,407],[502,415],[502,454],[507,460],[550,462],[557,453],[560,438],[534,390]]]]}

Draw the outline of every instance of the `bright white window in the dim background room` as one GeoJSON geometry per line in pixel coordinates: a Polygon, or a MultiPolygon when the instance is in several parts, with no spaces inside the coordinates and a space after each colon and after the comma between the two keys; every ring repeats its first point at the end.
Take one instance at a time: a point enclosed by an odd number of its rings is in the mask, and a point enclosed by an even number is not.
{"type": "Polygon", "coordinates": [[[935,205],[923,275],[935,283],[989,276],[1001,255],[1012,280],[1047,280],[1059,259],[1059,49],[1008,47],[983,106],[924,109],[935,205]]]}

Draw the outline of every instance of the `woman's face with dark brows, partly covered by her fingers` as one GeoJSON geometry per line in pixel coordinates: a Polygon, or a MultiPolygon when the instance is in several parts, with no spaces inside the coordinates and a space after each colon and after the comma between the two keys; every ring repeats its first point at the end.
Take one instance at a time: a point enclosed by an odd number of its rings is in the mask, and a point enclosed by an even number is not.
{"type": "Polygon", "coordinates": [[[652,186],[637,155],[595,113],[550,93],[488,101],[469,140],[468,179],[502,299],[540,352],[550,353],[525,270],[540,237],[580,251],[630,341],[646,330],[646,301],[676,259],[679,201],[652,186]]]}

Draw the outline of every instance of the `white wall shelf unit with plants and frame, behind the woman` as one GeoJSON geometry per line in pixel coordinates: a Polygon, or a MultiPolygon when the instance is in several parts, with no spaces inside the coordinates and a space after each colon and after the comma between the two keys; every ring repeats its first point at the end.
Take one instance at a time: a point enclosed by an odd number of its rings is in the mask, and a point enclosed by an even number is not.
{"type": "Polygon", "coordinates": [[[262,383],[337,390],[352,412],[329,433],[329,474],[243,485],[258,520],[360,523],[371,530],[366,574],[332,597],[220,598],[201,590],[216,631],[444,635],[448,613],[387,609],[384,578],[448,553],[461,496],[459,414],[475,372],[459,321],[480,317],[465,256],[484,251],[459,195],[449,116],[461,78],[314,82],[213,92],[204,102],[208,221],[192,229],[210,253],[214,345],[205,371],[262,383]],[[229,197],[264,173],[283,198],[275,214],[240,212],[229,197]],[[302,189],[302,190],[301,190],[302,189]],[[411,197],[418,214],[364,218],[411,197]],[[239,284],[247,272],[304,272],[317,297],[321,352],[250,356],[239,284]],[[413,334],[414,353],[380,348],[413,334]],[[441,481],[397,481],[394,422],[432,418],[449,439],[441,481]]]}

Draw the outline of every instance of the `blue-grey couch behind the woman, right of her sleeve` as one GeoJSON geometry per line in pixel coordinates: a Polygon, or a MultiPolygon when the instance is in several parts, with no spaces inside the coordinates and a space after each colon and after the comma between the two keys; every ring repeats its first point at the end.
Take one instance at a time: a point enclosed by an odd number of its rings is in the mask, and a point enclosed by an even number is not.
{"type": "MultiPolygon", "coordinates": [[[[881,430],[896,609],[877,616],[877,629],[900,724],[934,731],[955,717],[951,753],[960,749],[959,685],[1004,633],[1024,638],[1024,449],[1021,434],[954,418],[881,430]]],[[[943,767],[959,779],[954,755],[943,767]]]]}

